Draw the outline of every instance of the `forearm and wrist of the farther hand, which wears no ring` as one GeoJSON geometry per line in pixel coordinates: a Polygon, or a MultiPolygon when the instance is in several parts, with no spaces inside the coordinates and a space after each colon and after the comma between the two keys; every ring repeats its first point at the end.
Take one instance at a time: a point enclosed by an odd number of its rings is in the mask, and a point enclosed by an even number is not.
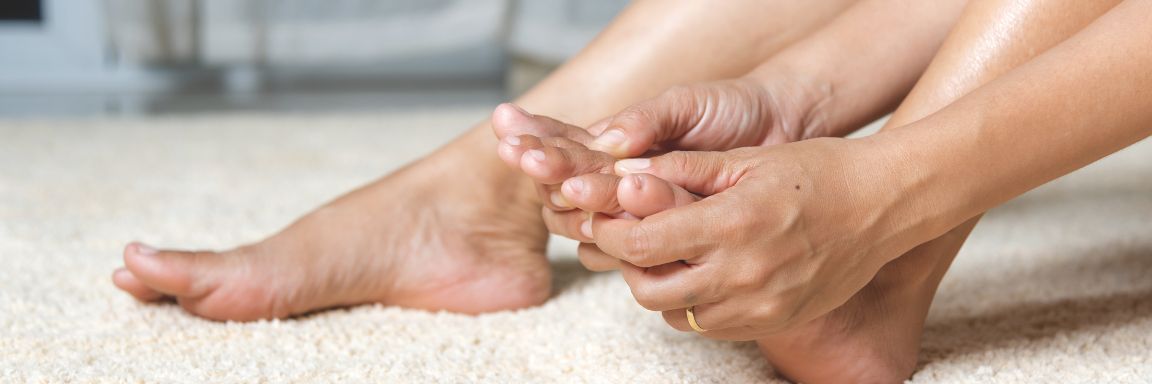
{"type": "MultiPolygon", "coordinates": [[[[801,82],[802,137],[843,136],[892,112],[927,67],[965,0],[865,0],[749,74],[801,82]]],[[[771,85],[770,85],[771,86],[771,85]]]]}

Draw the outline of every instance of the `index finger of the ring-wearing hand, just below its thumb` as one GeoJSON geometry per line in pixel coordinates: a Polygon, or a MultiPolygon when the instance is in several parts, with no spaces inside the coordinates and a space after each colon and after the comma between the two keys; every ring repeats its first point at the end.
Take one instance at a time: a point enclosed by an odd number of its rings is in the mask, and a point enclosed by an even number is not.
{"type": "MultiPolygon", "coordinates": [[[[608,255],[636,266],[694,259],[713,250],[726,235],[720,228],[733,213],[729,198],[711,196],[641,220],[597,217],[592,234],[608,255]]],[[[738,206],[737,206],[738,208],[738,206]]]]}

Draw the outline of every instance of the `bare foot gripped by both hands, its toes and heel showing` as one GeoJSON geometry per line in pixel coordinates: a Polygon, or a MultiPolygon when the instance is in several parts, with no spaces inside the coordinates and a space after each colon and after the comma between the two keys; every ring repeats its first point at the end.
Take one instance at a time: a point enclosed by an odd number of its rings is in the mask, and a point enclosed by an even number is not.
{"type": "MultiPolygon", "coordinates": [[[[642,218],[699,199],[654,175],[620,179],[597,173],[608,166],[602,156],[564,138],[522,137],[518,142],[516,146],[522,149],[506,149],[505,161],[518,164],[537,182],[571,178],[564,181],[567,186],[579,180],[581,194],[561,189],[566,201],[577,209],[623,211],[642,218]],[[526,150],[547,156],[533,163],[524,156],[526,150]],[[582,171],[593,173],[579,175],[582,171]]],[[[781,375],[804,383],[899,383],[909,378],[916,368],[924,318],[937,285],[970,229],[957,228],[889,263],[864,289],[828,315],[757,340],[765,357],[781,375]]],[[[619,265],[619,261],[594,247],[582,247],[581,259],[593,269],[619,265]]]]}

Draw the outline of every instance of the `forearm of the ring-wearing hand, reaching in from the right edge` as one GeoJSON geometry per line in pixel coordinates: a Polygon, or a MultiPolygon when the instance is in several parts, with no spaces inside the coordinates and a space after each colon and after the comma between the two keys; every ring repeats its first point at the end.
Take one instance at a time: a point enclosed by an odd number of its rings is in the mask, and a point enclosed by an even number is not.
{"type": "MultiPolygon", "coordinates": [[[[1127,1],[1070,39],[910,127],[872,141],[924,241],[1152,133],[1152,2],[1127,1]]],[[[919,238],[919,239],[916,239],[919,238]]]]}

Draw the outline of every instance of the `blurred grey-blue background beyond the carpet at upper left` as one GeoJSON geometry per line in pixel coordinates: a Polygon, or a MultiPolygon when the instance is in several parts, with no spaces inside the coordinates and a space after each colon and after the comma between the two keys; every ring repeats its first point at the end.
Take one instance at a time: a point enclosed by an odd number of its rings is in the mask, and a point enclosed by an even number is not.
{"type": "Polygon", "coordinates": [[[3,0],[0,116],[492,105],[624,0],[3,0]]]}

